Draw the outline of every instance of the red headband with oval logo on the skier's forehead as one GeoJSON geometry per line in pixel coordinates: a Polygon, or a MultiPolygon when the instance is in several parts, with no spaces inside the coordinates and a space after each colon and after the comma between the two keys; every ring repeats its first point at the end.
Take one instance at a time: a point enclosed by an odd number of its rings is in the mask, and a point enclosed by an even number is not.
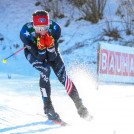
{"type": "Polygon", "coordinates": [[[33,24],[37,25],[48,25],[48,16],[33,16],[33,24]]]}

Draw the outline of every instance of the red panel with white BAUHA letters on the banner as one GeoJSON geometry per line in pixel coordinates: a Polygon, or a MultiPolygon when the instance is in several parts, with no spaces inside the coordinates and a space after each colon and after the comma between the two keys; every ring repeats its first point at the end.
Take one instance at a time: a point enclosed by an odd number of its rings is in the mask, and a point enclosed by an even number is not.
{"type": "Polygon", "coordinates": [[[99,73],[134,76],[134,54],[101,49],[99,73]]]}

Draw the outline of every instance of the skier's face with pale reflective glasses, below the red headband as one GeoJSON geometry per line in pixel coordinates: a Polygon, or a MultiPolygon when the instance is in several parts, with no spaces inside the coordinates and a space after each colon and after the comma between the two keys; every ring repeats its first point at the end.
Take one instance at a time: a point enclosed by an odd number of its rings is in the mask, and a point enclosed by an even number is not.
{"type": "Polygon", "coordinates": [[[45,35],[48,32],[49,26],[48,25],[39,25],[39,26],[34,26],[34,29],[36,33],[40,35],[45,35]]]}

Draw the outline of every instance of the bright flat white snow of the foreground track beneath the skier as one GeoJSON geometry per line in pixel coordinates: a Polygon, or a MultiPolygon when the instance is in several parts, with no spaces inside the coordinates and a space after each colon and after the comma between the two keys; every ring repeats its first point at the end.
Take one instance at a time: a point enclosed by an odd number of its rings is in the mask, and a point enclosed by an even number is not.
{"type": "MultiPolygon", "coordinates": [[[[42,116],[43,104],[38,78],[14,75],[14,78],[7,79],[4,76],[0,75],[1,133],[134,133],[134,90],[131,85],[100,85],[99,90],[95,90],[93,81],[90,80],[85,85],[86,88],[79,87],[83,102],[94,116],[92,121],[87,122],[79,118],[73,102],[60,83],[52,80],[52,100],[55,109],[61,118],[70,124],[61,128],[48,123],[42,116]]],[[[86,83],[81,81],[79,84],[86,83]]]]}

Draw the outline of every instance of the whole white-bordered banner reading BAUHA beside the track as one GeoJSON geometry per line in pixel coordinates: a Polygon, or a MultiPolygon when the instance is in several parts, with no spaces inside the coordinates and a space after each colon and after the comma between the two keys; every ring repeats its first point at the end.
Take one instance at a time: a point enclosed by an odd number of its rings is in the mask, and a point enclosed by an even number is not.
{"type": "Polygon", "coordinates": [[[134,83],[134,48],[103,44],[98,52],[100,80],[134,83]]]}

